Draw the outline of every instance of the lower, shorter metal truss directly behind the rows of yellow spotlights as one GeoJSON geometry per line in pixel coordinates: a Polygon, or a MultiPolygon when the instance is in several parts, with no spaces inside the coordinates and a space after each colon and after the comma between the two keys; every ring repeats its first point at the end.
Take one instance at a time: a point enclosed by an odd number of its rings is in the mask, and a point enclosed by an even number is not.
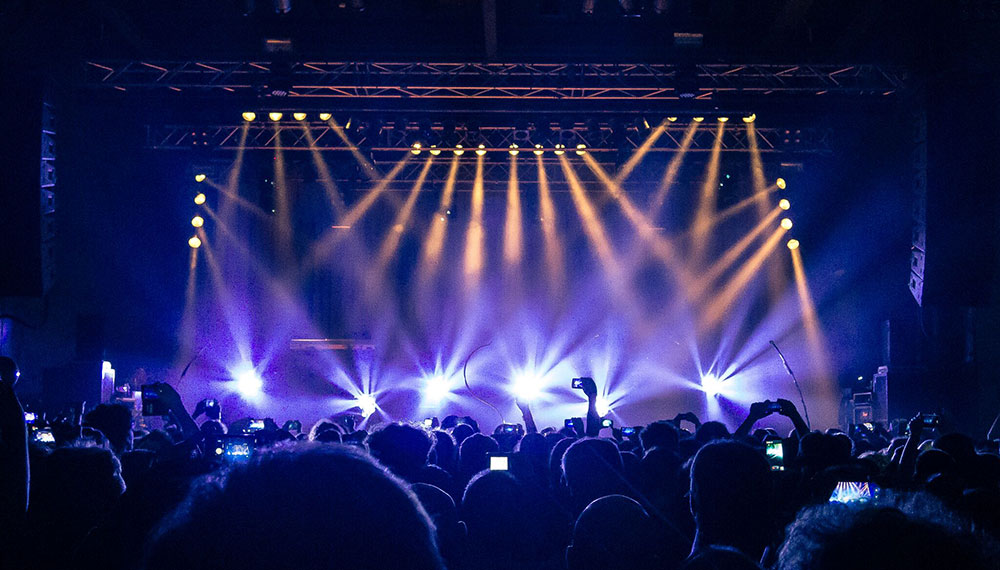
{"type": "MultiPolygon", "coordinates": [[[[688,125],[668,123],[664,132],[649,148],[649,152],[672,152],[682,147],[688,125]]],[[[697,127],[688,147],[688,152],[711,151],[716,139],[715,121],[706,120],[697,127]]],[[[755,125],[757,146],[762,153],[810,153],[828,154],[833,151],[832,129],[804,128],[786,129],[755,125]]],[[[440,151],[451,154],[461,148],[465,157],[475,156],[480,148],[488,155],[496,156],[506,152],[511,145],[517,145],[524,154],[541,144],[541,150],[550,154],[562,145],[567,154],[575,152],[577,145],[583,145],[588,152],[614,154],[631,152],[643,144],[649,135],[646,129],[611,127],[608,125],[574,125],[570,129],[551,130],[540,136],[535,130],[516,127],[482,127],[478,130],[456,129],[444,131],[441,126],[421,130],[419,127],[396,129],[388,127],[364,126],[345,132],[327,123],[307,122],[252,122],[242,125],[216,126],[150,126],[147,131],[147,146],[153,149],[198,149],[198,150],[282,150],[282,151],[357,151],[362,152],[409,152],[419,143],[422,151],[440,151]],[[244,137],[244,130],[245,137],[244,137]],[[437,147],[436,149],[432,146],[437,147]]],[[[723,152],[748,152],[750,139],[748,125],[738,119],[729,121],[723,129],[720,149],[723,152]]]]}

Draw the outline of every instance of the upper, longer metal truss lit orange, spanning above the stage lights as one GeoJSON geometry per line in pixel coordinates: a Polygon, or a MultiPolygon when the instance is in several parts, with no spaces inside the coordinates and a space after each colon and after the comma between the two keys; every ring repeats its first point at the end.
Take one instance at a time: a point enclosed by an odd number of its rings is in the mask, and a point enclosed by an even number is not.
{"type": "Polygon", "coordinates": [[[82,83],[121,91],[289,98],[663,101],[714,95],[879,97],[903,88],[899,68],[838,64],[376,63],[90,61],[82,83]],[[290,89],[289,89],[290,87],[290,89]]]}

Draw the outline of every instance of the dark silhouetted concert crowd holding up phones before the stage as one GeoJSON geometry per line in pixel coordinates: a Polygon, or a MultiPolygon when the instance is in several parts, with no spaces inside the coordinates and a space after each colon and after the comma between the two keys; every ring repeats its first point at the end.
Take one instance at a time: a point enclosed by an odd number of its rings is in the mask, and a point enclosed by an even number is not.
{"type": "Polygon", "coordinates": [[[779,399],[733,432],[692,413],[616,429],[583,379],[586,415],[555,428],[519,402],[522,422],[493,430],[303,430],[227,425],[218,402],[189,413],[157,384],[165,428],[141,431],[122,404],[46,424],[13,361],[0,376],[3,568],[1000,567],[997,442],[922,415],[902,435],[821,432],[779,399]],[[755,428],[772,414],[789,433],[755,428]]]}

